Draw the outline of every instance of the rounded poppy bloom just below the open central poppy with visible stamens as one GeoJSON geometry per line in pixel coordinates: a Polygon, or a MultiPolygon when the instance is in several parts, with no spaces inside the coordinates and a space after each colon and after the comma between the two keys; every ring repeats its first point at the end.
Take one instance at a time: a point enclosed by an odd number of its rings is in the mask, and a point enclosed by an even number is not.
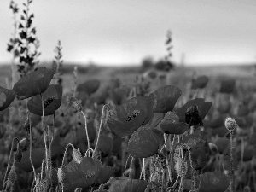
{"type": "Polygon", "coordinates": [[[146,158],[157,154],[163,144],[162,133],[150,127],[140,127],[128,142],[128,153],[136,158],[146,158]]]}

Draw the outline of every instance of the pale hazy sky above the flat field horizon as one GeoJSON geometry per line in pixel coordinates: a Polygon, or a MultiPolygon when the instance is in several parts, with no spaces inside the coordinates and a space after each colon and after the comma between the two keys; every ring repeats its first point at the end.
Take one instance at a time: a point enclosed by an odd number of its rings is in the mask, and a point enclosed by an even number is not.
{"type": "MultiPolygon", "coordinates": [[[[0,63],[11,61],[9,2],[0,1],[0,63]]],[[[58,40],[64,62],[139,64],[148,55],[157,61],[166,55],[167,30],[177,63],[256,61],[255,0],[33,0],[31,11],[40,61],[53,60],[58,40]]]]}

